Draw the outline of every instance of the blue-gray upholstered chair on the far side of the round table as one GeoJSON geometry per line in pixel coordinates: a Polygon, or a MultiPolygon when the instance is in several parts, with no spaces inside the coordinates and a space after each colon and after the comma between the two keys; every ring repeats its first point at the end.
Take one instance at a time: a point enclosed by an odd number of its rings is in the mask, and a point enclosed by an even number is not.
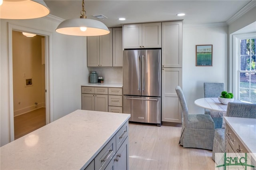
{"type": "MultiPolygon", "coordinates": [[[[204,83],[204,97],[219,97],[224,91],[224,83],[204,83]]],[[[222,127],[222,113],[204,109],[204,114],[211,115],[215,128],[222,127]]]]}

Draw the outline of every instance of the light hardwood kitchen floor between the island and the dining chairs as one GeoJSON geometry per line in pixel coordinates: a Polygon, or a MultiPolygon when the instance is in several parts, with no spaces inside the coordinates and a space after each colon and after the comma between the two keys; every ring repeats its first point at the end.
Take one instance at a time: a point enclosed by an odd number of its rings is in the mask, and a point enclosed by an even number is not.
{"type": "Polygon", "coordinates": [[[214,170],[212,151],[183,148],[181,127],[129,123],[130,170],[214,170]]]}

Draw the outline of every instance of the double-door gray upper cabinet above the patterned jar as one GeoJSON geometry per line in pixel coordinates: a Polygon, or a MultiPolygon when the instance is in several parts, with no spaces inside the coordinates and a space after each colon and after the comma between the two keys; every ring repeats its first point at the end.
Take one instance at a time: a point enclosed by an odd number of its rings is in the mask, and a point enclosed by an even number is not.
{"type": "Polygon", "coordinates": [[[104,36],[87,37],[87,66],[88,67],[112,67],[112,28],[110,33],[104,36]]]}

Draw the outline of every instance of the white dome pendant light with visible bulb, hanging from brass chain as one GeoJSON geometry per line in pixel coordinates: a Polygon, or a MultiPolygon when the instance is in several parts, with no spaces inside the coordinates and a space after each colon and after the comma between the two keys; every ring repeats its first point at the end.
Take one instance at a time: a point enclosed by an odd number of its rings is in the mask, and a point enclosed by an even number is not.
{"type": "Polygon", "coordinates": [[[82,16],[65,20],[56,28],[56,32],[70,36],[102,36],[109,34],[108,27],[98,20],[87,19],[82,0],[82,16]]]}

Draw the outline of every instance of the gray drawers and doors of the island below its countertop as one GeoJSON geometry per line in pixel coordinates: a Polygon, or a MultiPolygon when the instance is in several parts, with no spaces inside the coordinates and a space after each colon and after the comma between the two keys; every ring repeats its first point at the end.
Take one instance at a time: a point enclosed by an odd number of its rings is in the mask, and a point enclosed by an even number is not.
{"type": "Polygon", "coordinates": [[[104,146],[85,170],[128,170],[129,169],[128,121],[104,146]]]}

